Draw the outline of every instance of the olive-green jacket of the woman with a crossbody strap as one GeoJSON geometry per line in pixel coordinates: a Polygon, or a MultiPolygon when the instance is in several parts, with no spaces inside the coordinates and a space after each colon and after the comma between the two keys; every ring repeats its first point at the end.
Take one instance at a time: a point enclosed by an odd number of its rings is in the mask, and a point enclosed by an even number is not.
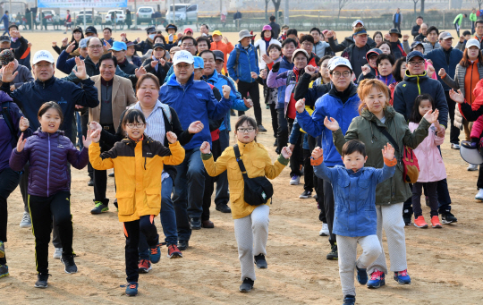
{"type": "MultiPolygon", "coordinates": [[[[404,146],[417,148],[419,143],[428,136],[428,128],[431,124],[428,123],[426,119],[423,118],[419,123],[419,127],[411,133],[404,116],[396,113],[393,107],[386,107],[384,113],[386,116],[386,123],[381,123],[376,115],[365,109],[360,116],[357,116],[352,120],[347,133],[345,133],[345,137],[340,129],[333,132],[332,135],[337,151],[341,153],[343,144],[349,140],[361,140],[366,144],[366,154],[368,156],[368,161],[365,166],[382,168],[384,166],[384,159],[382,157],[381,149],[389,143],[389,140],[387,140],[386,136],[377,129],[374,123],[376,123],[377,126],[387,128],[389,134],[397,141],[400,150],[402,150],[404,146]]],[[[394,203],[404,202],[412,195],[409,184],[402,179],[402,152],[395,152],[395,157],[397,157],[399,163],[396,165],[394,176],[391,179],[386,180],[386,182],[377,185],[376,205],[387,206],[394,203]]]]}

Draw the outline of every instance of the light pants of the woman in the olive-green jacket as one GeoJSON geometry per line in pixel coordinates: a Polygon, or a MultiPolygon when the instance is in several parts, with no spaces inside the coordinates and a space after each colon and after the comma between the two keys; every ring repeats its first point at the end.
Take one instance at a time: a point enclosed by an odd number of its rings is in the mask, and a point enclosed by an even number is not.
{"type": "MultiPolygon", "coordinates": [[[[393,272],[406,270],[408,268],[406,261],[406,236],[404,234],[404,220],[402,220],[403,204],[403,202],[400,202],[389,206],[376,206],[377,238],[382,248],[382,229],[384,228],[389,258],[391,260],[391,271],[393,272]]],[[[373,273],[375,269],[387,274],[386,254],[384,251],[368,267],[368,273],[373,273]]]]}

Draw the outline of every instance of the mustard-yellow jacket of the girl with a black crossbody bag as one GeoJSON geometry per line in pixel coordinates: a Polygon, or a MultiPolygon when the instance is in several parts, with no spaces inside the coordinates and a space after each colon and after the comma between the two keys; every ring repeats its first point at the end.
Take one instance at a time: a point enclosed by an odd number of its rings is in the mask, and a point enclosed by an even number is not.
{"type": "MultiPolygon", "coordinates": [[[[238,141],[238,147],[240,148],[240,156],[242,157],[243,165],[245,165],[249,178],[265,175],[268,179],[275,179],[276,176],[282,173],[285,165],[289,162],[288,159],[280,155],[275,161],[275,164],[272,165],[272,160],[268,156],[267,149],[255,141],[248,144],[238,141]]],[[[257,207],[250,206],[243,199],[245,183],[243,182],[242,171],[236,161],[233,147],[226,148],[223,154],[216,159],[216,162],[213,160],[211,154],[201,154],[201,157],[203,158],[207,173],[210,176],[215,177],[227,170],[233,219],[249,216],[257,207]]],[[[267,205],[270,206],[272,200],[270,199],[268,202],[267,205]]]]}

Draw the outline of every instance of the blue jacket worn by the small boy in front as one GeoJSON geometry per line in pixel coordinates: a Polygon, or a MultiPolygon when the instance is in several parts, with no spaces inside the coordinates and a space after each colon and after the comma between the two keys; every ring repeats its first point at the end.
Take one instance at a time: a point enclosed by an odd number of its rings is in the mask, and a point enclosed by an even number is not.
{"type": "Polygon", "coordinates": [[[325,163],[314,166],[314,173],[331,182],[334,189],[335,235],[359,237],[376,235],[376,186],[394,175],[395,166],[383,168],[362,167],[353,172],[337,165],[326,167],[325,163]]]}

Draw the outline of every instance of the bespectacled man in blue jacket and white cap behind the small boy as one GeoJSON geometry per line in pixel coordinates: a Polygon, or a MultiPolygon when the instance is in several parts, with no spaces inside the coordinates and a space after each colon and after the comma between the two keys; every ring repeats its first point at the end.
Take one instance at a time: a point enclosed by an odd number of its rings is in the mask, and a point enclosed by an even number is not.
{"type": "MultiPolygon", "coordinates": [[[[352,83],[352,65],[343,57],[335,57],[329,66],[330,80],[334,84],[330,91],[318,98],[312,116],[305,110],[305,101],[300,99],[295,104],[297,109],[297,121],[301,129],[309,135],[317,138],[322,135],[321,148],[324,149],[324,161],[326,166],[343,165],[341,155],[337,152],[332,139],[332,131],[324,126],[326,116],[333,117],[340,124],[343,133],[347,131],[352,119],[359,116],[358,107],[360,98],[357,95],[357,87],[352,83]]],[[[322,181],[318,181],[322,182],[322,181]]],[[[338,259],[335,235],[332,233],[334,224],[334,192],[330,182],[323,181],[324,208],[326,209],[326,221],[329,227],[329,242],[331,251],[327,259],[338,259]]]]}

